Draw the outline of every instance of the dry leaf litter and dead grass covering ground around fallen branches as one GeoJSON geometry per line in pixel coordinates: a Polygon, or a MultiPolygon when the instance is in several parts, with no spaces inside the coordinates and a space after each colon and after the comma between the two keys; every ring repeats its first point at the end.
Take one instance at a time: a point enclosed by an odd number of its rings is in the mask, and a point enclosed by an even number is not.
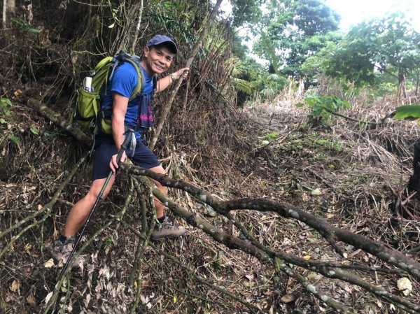
{"type": "MultiPolygon", "coordinates": [[[[334,226],[369,236],[402,252],[413,250],[412,257],[416,258],[420,227],[415,219],[417,201],[415,195],[407,195],[405,185],[412,173],[412,145],[419,128],[414,122],[390,120],[370,129],[335,117],[312,125],[307,122],[307,110],[295,106],[300,100],[286,90],[270,102],[238,110],[241,119],[248,122],[248,129],[237,131],[237,136],[244,136],[242,141],[251,138],[248,152],[230,146],[229,150],[237,149],[240,156],[232,153],[223,159],[217,145],[205,142],[201,143],[211,146],[214,155],[200,154],[181,143],[174,143],[174,148],[161,147],[167,152],[162,162],[169,176],[205,187],[223,200],[251,197],[288,201],[334,226]]],[[[19,144],[6,136],[1,139],[0,231],[41,209],[83,155],[83,150],[64,131],[28,112],[18,97],[13,104],[2,131],[13,131],[19,144]],[[36,134],[35,129],[43,131],[36,134]]],[[[347,114],[360,120],[369,117],[379,121],[386,111],[381,101],[368,108],[355,102],[347,114]]],[[[85,162],[60,194],[51,215],[0,253],[1,280],[5,283],[0,294],[2,313],[42,311],[43,300],[55,285],[59,271],[56,265],[48,264],[50,246],[71,204],[87,191],[88,173],[90,163],[85,162]]],[[[127,190],[127,176],[122,173],[109,199],[95,213],[84,241],[121,210],[127,190]]],[[[196,215],[240,236],[224,217],[187,193],[172,190],[169,195],[196,215]]],[[[132,262],[139,245],[130,228],[140,230],[139,207],[134,200],[130,212],[125,214],[125,223],[130,227],[118,224],[93,239],[85,252],[88,265],[83,271],[73,272],[65,313],[128,313],[137,288],[132,280],[132,262]]],[[[235,216],[273,249],[305,259],[337,259],[330,246],[301,222],[251,210],[235,216]]],[[[200,229],[183,220],[176,221],[188,229],[187,236],[152,243],[144,252],[137,313],[252,313],[214,287],[197,283],[197,275],[265,311],[271,309],[272,313],[328,312],[325,304],[302,290],[293,278],[273,276],[269,267],[254,257],[210,241],[200,229]]],[[[8,235],[2,242],[11,240],[13,236],[8,235]]],[[[350,260],[377,264],[377,258],[363,250],[354,250],[351,245],[345,250],[350,260]]],[[[303,273],[359,313],[393,309],[356,285],[329,280],[310,271],[303,273]]],[[[395,276],[375,276],[373,280],[400,293],[395,276]]],[[[409,298],[414,303],[419,299],[415,281],[409,298]]]]}

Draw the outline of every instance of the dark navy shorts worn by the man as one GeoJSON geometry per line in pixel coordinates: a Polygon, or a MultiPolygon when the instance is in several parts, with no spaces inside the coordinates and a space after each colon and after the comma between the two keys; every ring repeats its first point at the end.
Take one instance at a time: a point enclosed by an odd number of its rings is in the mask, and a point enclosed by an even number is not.
{"type": "MultiPolygon", "coordinates": [[[[109,175],[109,162],[116,155],[117,148],[111,135],[98,134],[95,136],[92,180],[104,179],[109,175]]],[[[126,151],[127,153],[127,151],[126,151]]],[[[160,166],[158,157],[146,146],[144,139],[137,141],[134,156],[130,157],[133,164],[146,169],[160,166]]]]}

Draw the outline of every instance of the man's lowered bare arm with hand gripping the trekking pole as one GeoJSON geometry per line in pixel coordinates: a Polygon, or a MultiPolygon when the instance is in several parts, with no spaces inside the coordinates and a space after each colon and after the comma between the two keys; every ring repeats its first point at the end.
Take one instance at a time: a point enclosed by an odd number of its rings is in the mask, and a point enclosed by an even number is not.
{"type": "MultiPolygon", "coordinates": [[[[113,98],[113,110],[112,110],[112,117],[111,117],[111,124],[112,124],[112,136],[114,141],[116,142],[116,148],[119,151],[121,149],[121,145],[124,142],[124,119],[125,113],[127,112],[128,106],[128,98],[124,97],[121,94],[114,92],[112,94],[113,98]]],[[[121,162],[125,160],[125,152],[121,156],[121,162]]],[[[116,169],[118,168],[117,164],[117,155],[113,155],[111,162],[109,163],[111,170],[113,173],[116,173],[116,169]]]]}

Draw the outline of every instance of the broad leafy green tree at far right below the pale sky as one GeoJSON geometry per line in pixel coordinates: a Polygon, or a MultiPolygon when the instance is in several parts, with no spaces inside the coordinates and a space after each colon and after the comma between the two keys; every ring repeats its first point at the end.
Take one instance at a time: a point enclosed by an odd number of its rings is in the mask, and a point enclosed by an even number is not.
{"type": "Polygon", "coordinates": [[[420,34],[402,13],[394,13],[353,27],[332,51],[326,74],[363,85],[372,83],[379,70],[400,83],[419,63],[420,34]]]}

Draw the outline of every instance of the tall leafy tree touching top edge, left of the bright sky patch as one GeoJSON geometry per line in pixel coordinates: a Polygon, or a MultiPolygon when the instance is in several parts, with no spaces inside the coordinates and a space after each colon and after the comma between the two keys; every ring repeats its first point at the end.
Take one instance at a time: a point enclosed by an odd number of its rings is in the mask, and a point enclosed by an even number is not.
{"type": "Polygon", "coordinates": [[[274,73],[300,76],[308,57],[341,37],[334,32],[339,15],[324,1],[268,1],[266,12],[255,27],[260,38],[253,50],[274,73]]]}

